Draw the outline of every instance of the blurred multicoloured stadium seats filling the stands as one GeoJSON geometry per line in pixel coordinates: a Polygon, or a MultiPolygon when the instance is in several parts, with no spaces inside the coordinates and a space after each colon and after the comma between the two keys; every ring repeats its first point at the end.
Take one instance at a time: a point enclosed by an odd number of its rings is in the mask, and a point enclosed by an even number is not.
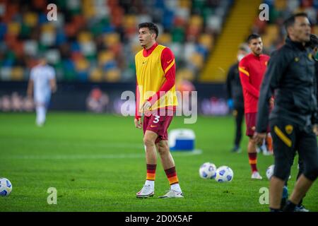
{"type": "MultiPolygon", "coordinates": [[[[136,37],[137,25],[153,21],[160,30],[158,42],[174,51],[177,70],[187,68],[197,74],[214,49],[215,40],[220,35],[232,2],[143,1],[143,7],[140,7],[139,1],[57,0],[55,4],[59,8],[59,19],[47,23],[47,1],[25,1],[20,4],[4,1],[6,10],[0,23],[0,46],[12,49],[14,54],[11,58],[9,54],[1,55],[1,66],[21,64],[27,65],[26,70],[30,70],[28,66],[32,64],[26,62],[27,59],[49,51],[52,53],[52,66],[58,70],[62,81],[79,78],[76,76],[78,69],[83,72],[82,69],[97,65],[96,70],[105,73],[103,70],[115,65],[114,68],[125,76],[114,77],[134,82],[134,54],[141,49],[136,37]],[[57,49],[59,54],[49,49],[57,49]],[[16,54],[20,56],[19,60],[16,54]],[[87,62],[82,59],[78,61],[78,56],[87,62]],[[70,59],[75,65],[73,69],[65,66],[69,64],[65,62],[70,59]],[[109,61],[114,63],[108,64],[109,61]]],[[[273,18],[274,21],[279,20],[290,7],[293,10],[305,8],[312,17],[317,17],[318,4],[315,1],[264,2],[271,5],[271,20],[273,18]]],[[[273,43],[277,43],[273,37],[279,39],[281,31],[274,28],[271,30],[271,27],[265,29],[266,26],[266,23],[259,24],[260,32],[268,36],[264,37],[266,47],[270,48],[273,43]]],[[[86,72],[90,79],[93,72],[87,69],[86,72]]],[[[100,80],[100,76],[95,77],[100,80]]]]}

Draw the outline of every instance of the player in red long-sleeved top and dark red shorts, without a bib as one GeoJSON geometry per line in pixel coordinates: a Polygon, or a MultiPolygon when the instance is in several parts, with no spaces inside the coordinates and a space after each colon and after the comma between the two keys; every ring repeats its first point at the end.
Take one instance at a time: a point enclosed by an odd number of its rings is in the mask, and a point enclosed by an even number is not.
{"type": "Polygon", "coordinates": [[[249,155],[249,165],[251,165],[252,168],[252,179],[262,179],[257,170],[257,143],[254,141],[253,135],[256,126],[259,90],[266,71],[267,62],[269,61],[269,56],[262,54],[263,42],[259,35],[249,35],[247,41],[251,53],[247,54],[239,64],[245,105],[246,135],[249,136],[247,153],[249,155]]]}

